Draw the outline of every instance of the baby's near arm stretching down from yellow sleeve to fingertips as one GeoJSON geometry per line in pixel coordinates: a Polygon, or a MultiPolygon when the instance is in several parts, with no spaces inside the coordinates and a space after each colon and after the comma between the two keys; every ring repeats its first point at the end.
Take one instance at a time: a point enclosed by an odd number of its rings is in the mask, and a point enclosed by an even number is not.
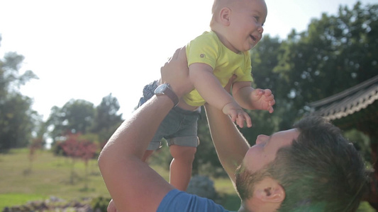
{"type": "Polygon", "coordinates": [[[189,66],[189,78],[204,100],[213,107],[230,115],[233,122],[240,127],[252,126],[250,116],[244,112],[233,97],[221,86],[218,78],[213,75],[213,69],[208,64],[194,63],[189,66]]]}

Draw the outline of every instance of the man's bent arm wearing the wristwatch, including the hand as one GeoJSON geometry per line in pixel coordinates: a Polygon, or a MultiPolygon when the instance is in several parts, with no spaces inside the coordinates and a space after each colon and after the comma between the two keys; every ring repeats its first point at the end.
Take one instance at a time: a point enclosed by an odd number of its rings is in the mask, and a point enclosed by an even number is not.
{"type": "MultiPolygon", "coordinates": [[[[169,61],[171,66],[182,67],[181,61],[185,59],[177,61],[180,55],[175,52],[169,61]]],[[[168,77],[162,73],[162,80],[171,84],[174,93],[180,97],[191,90],[187,71],[172,73],[168,77]]],[[[160,122],[172,107],[173,102],[167,95],[153,96],[123,122],[101,151],[99,168],[118,211],[156,211],[164,196],[174,189],[141,160],[160,122]]]]}

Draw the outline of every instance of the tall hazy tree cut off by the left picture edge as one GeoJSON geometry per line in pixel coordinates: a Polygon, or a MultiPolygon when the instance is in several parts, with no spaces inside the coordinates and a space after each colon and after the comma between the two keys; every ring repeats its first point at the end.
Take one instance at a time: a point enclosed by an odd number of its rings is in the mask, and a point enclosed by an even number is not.
{"type": "Polygon", "coordinates": [[[18,73],[23,59],[16,52],[0,59],[0,153],[28,146],[35,127],[37,113],[30,109],[33,101],[21,95],[18,88],[37,76],[33,71],[18,73]]]}

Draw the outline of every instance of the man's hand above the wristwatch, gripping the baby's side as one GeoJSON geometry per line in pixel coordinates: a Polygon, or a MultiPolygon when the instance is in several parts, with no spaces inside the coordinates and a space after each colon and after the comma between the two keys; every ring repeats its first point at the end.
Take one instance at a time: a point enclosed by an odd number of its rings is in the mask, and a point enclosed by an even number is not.
{"type": "Polygon", "coordinates": [[[173,56],[160,69],[161,83],[169,83],[174,93],[180,98],[194,89],[189,80],[189,68],[185,47],[177,49],[173,56]]]}

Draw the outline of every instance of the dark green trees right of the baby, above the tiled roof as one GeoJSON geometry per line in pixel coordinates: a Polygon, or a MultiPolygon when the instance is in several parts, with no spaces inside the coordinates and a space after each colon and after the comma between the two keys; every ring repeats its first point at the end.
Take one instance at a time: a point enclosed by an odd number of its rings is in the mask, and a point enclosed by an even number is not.
{"type": "Polygon", "coordinates": [[[308,112],[309,102],[377,75],[377,10],[357,2],[352,9],[340,6],[337,16],[313,19],[308,30],[293,30],[287,40],[265,36],[251,50],[252,74],[256,88],[272,90],[276,105],[270,120],[262,115],[255,123],[288,129],[308,112]]]}

